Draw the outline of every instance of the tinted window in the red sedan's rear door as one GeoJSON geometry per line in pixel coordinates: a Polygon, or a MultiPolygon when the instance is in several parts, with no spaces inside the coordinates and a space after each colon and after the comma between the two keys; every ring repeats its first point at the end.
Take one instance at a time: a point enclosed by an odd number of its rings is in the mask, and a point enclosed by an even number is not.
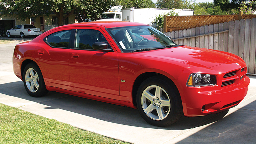
{"type": "Polygon", "coordinates": [[[72,30],[63,30],[47,36],[46,42],[53,47],[68,47],[72,30]]]}

